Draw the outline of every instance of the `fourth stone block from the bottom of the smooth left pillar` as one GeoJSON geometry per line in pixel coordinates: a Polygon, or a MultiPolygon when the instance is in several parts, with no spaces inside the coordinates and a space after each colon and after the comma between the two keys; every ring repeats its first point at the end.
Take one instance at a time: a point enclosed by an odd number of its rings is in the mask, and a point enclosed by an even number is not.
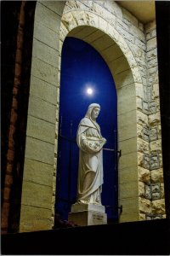
{"type": "Polygon", "coordinates": [[[54,145],[32,137],[26,137],[26,157],[54,165],[54,145]]]}

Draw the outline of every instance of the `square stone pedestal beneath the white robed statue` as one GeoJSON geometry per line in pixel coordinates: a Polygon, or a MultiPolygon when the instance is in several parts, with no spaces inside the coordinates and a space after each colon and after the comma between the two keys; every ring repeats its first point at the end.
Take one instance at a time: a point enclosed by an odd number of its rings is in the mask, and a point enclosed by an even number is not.
{"type": "Polygon", "coordinates": [[[80,226],[107,224],[107,215],[104,206],[76,203],[71,207],[68,220],[80,226]]]}

